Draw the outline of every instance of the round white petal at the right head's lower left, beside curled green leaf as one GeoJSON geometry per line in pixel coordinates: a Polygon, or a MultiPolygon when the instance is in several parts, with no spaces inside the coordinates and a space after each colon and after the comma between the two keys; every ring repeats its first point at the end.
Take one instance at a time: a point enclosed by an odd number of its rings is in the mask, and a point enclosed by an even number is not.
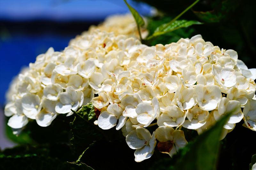
{"type": "Polygon", "coordinates": [[[104,111],[100,114],[98,118],[98,125],[101,129],[110,129],[116,126],[116,116],[110,115],[107,111],[104,111]]]}

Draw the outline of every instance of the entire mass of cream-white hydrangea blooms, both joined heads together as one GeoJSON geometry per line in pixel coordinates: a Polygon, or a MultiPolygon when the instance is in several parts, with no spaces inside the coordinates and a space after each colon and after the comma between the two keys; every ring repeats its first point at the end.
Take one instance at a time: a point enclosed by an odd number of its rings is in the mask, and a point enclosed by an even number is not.
{"type": "Polygon", "coordinates": [[[92,102],[100,110],[94,124],[121,129],[140,162],[152,156],[157,141],[158,150],[172,157],[187,144],[182,127],[201,134],[231,110],[221,138],[242,119],[256,131],[255,78],[256,69],[248,69],[236,51],[201,35],[148,47],[136,36],[94,29],[63,52],[49,48],[37,56],[19,75],[5,115],[12,116],[8,125],[14,129],[28,119],[45,127],[58,114],[70,116],[71,109],[92,102]]]}

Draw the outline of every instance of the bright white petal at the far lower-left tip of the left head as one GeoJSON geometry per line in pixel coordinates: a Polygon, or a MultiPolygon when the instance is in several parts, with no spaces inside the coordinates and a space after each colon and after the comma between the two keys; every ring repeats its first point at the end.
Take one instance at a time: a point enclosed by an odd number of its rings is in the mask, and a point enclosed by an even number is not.
{"type": "Polygon", "coordinates": [[[28,123],[28,118],[25,115],[13,115],[7,125],[14,129],[24,127],[28,123]]]}

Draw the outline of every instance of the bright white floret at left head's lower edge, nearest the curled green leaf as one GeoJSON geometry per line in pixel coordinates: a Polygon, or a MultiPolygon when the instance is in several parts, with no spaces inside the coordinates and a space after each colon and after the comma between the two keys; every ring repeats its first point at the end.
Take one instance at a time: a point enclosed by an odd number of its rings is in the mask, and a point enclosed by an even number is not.
{"type": "Polygon", "coordinates": [[[68,86],[66,92],[60,93],[60,101],[56,104],[55,111],[60,114],[67,114],[70,116],[73,114],[71,111],[76,111],[82,106],[84,102],[84,93],[76,92],[73,87],[68,86]]]}

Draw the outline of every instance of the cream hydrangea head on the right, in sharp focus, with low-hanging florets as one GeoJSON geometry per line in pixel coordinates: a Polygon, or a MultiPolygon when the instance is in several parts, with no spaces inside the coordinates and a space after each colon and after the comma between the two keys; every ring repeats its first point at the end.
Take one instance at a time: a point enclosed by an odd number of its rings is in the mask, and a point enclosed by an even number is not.
{"type": "MultiPolygon", "coordinates": [[[[111,80],[92,103],[101,110],[95,124],[122,128],[136,150],[135,161],[151,157],[156,139],[158,149],[172,156],[187,144],[182,127],[200,134],[229,111],[233,115],[221,138],[242,119],[256,130],[256,71],[248,70],[236,51],[213,46],[201,35],[167,45],[133,45],[126,51],[131,59],[127,67],[108,72],[111,80]],[[151,135],[146,128],[154,125],[158,128],[151,135]]],[[[118,61],[115,67],[120,67],[118,61]]]]}

